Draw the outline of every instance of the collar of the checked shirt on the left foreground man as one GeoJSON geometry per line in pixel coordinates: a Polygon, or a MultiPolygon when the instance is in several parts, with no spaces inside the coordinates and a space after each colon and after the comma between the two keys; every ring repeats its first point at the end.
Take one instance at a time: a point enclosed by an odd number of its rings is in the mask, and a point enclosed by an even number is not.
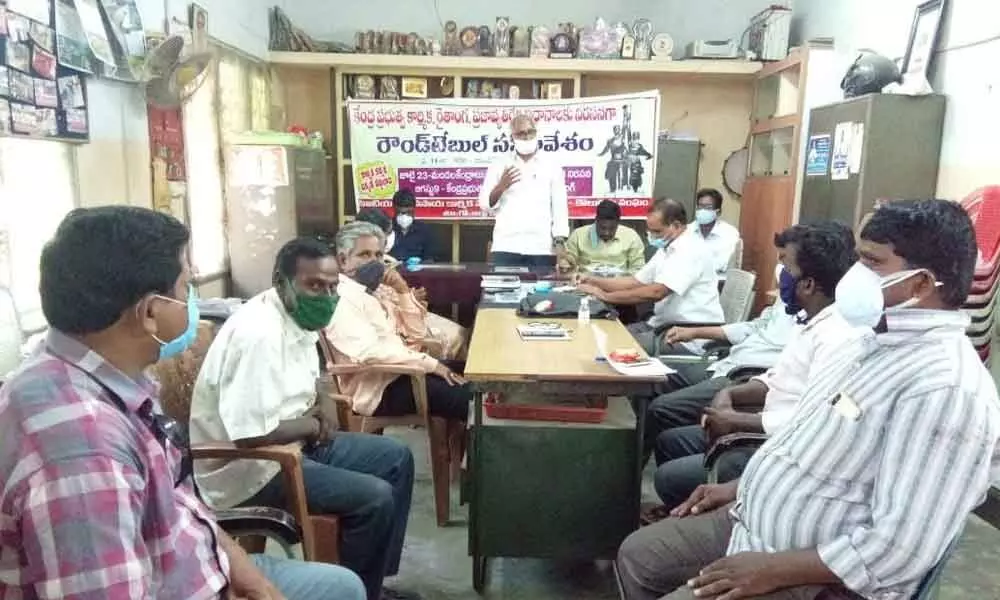
{"type": "Polygon", "coordinates": [[[140,375],[139,379],[129,377],[103,356],[61,331],[49,330],[45,348],[49,354],[90,375],[117,396],[131,412],[138,413],[156,396],[157,385],[152,379],[146,375],[140,375]]]}

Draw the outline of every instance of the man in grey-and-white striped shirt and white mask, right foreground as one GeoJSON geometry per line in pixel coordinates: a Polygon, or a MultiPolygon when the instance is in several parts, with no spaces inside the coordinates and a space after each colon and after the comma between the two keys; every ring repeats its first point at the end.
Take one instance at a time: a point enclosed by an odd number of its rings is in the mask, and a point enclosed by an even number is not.
{"type": "Polygon", "coordinates": [[[883,205],[837,306],[859,327],[819,361],[740,481],[702,486],[622,545],[627,600],[907,600],[1000,478],[996,388],[959,307],[972,223],[883,205]]]}

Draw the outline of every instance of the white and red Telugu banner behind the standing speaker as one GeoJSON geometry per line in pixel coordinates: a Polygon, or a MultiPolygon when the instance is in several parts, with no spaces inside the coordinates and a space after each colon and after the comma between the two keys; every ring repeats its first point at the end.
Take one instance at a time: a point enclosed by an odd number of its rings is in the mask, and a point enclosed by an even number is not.
{"type": "Polygon", "coordinates": [[[558,164],[571,218],[592,218],[611,199],[622,217],[646,216],[653,196],[658,91],[566,100],[348,102],[357,208],[391,209],[397,189],[417,197],[422,219],[484,219],[486,169],[513,153],[510,123],[531,115],[539,151],[558,164]]]}

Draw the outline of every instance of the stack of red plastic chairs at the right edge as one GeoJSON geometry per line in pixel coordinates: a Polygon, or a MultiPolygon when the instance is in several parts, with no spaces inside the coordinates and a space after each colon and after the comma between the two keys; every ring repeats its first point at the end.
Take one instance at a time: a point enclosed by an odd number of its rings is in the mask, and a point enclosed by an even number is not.
{"type": "Polygon", "coordinates": [[[980,358],[989,365],[1000,283],[1000,186],[976,190],[961,204],[972,218],[979,247],[972,290],[963,310],[972,318],[968,336],[980,358]]]}

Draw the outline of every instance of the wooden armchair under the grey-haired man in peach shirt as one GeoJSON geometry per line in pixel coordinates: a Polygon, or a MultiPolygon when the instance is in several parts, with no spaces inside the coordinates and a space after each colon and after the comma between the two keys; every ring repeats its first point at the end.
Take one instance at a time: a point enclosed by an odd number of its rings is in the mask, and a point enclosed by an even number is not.
{"type": "MultiPolygon", "coordinates": [[[[430,441],[431,479],[434,483],[434,508],[439,527],[448,524],[451,513],[451,481],[461,474],[465,454],[465,423],[432,417],[427,410],[427,376],[420,369],[399,365],[337,364],[335,354],[326,336],[320,336],[320,347],[331,375],[359,375],[361,373],[388,373],[409,377],[417,412],[398,417],[371,417],[360,415],[348,408],[341,416],[350,431],[381,434],[386,427],[425,427],[430,441]]],[[[335,381],[332,382],[336,385],[335,381]]],[[[339,387],[334,390],[339,395],[339,387]]],[[[343,397],[343,396],[340,396],[343,397]]],[[[349,404],[353,406],[353,403],[349,404]]]]}

